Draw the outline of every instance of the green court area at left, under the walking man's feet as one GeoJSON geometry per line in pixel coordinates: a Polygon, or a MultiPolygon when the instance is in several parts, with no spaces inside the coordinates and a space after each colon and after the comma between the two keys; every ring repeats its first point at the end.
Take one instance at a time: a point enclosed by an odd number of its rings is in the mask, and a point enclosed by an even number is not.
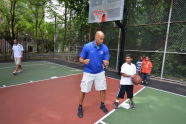
{"type": "Polygon", "coordinates": [[[12,74],[15,64],[0,63],[0,87],[81,73],[81,70],[47,61],[24,62],[23,72],[12,74]]]}

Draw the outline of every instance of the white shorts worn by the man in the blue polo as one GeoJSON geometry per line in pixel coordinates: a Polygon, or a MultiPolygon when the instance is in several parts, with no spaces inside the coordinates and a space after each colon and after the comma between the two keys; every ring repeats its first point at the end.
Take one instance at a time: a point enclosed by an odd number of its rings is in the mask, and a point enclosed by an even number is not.
{"type": "Polygon", "coordinates": [[[98,91],[106,90],[107,83],[105,78],[105,72],[100,72],[98,74],[83,73],[83,78],[81,80],[81,92],[88,93],[92,89],[92,84],[94,83],[95,89],[98,91]]]}

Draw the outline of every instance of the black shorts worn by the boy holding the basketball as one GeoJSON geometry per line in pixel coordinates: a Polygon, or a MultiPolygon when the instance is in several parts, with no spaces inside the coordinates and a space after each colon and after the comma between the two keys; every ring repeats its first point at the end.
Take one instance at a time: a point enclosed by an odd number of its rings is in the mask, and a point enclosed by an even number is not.
{"type": "Polygon", "coordinates": [[[120,85],[117,97],[123,99],[126,92],[127,98],[133,98],[133,87],[133,85],[120,85]]]}

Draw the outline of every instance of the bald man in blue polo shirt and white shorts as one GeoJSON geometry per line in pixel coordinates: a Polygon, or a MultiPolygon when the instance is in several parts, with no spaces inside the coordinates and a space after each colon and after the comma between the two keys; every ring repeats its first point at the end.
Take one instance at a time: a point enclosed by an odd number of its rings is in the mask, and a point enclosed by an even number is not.
{"type": "Polygon", "coordinates": [[[80,85],[81,92],[77,113],[79,118],[83,117],[83,100],[85,94],[91,91],[93,83],[95,89],[100,91],[100,109],[104,113],[108,113],[104,104],[107,89],[104,67],[109,65],[109,50],[107,46],[103,44],[103,40],[104,33],[102,31],[97,31],[95,34],[95,40],[85,44],[80,54],[79,61],[84,64],[84,73],[80,85]]]}

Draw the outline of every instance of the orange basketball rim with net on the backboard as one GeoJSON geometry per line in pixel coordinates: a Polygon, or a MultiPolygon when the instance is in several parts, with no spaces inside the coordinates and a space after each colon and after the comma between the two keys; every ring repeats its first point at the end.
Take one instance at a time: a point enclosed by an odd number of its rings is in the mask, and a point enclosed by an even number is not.
{"type": "Polygon", "coordinates": [[[94,10],[93,15],[96,22],[105,22],[106,21],[106,11],[104,10],[94,10]]]}

